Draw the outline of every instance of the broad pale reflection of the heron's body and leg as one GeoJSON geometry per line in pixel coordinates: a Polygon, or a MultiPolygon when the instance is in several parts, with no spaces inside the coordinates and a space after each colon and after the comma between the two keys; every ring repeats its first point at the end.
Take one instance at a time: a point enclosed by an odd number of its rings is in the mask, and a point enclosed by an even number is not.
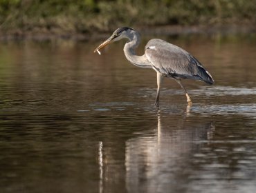
{"type": "Polygon", "coordinates": [[[184,117],[172,130],[170,127],[163,127],[161,119],[159,113],[154,136],[139,136],[125,144],[126,183],[129,192],[186,190],[193,169],[184,169],[190,165],[190,156],[201,148],[194,141],[210,141],[214,134],[214,123],[190,126],[185,123],[184,117]]]}

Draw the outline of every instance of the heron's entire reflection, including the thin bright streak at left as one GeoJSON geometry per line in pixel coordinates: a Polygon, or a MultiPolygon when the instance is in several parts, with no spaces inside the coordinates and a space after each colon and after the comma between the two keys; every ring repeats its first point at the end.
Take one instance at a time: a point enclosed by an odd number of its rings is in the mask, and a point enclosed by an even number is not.
{"type": "Polygon", "coordinates": [[[165,192],[170,188],[179,191],[181,183],[188,183],[190,170],[185,168],[188,168],[192,154],[203,145],[196,141],[210,141],[214,124],[190,117],[190,106],[184,110],[183,116],[162,113],[161,110],[156,116],[158,123],[156,130],[153,128],[154,134],[138,134],[125,141],[125,163],[122,163],[125,170],[109,173],[106,169],[109,163],[102,158],[104,145],[99,143],[100,192],[106,188],[116,190],[107,185],[107,179],[118,172],[125,172],[127,192],[165,192]]]}

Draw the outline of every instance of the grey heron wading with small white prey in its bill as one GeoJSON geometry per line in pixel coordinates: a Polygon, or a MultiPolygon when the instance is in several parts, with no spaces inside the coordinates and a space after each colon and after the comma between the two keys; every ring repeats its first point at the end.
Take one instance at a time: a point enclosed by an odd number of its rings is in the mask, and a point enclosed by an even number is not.
{"type": "Polygon", "coordinates": [[[192,103],[188,92],[181,83],[181,79],[196,79],[205,83],[214,83],[210,73],[203,68],[203,65],[192,56],[192,54],[179,48],[172,43],[168,43],[161,39],[151,39],[145,46],[145,54],[136,55],[135,49],[140,43],[140,34],[132,28],[122,27],[113,32],[111,37],[104,41],[94,50],[100,54],[100,49],[113,41],[127,38],[129,41],[125,43],[125,57],[132,64],[140,68],[153,68],[157,74],[157,92],[155,105],[158,107],[161,82],[163,77],[174,79],[181,88],[183,88],[187,101],[192,103]]]}

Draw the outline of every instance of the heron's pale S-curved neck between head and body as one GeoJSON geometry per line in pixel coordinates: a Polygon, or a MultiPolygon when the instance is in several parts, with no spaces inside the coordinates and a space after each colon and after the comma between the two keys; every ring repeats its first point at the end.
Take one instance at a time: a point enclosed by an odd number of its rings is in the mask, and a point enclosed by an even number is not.
{"type": "Polygon", "coordinates": [[[142,56],[136,55],[135,49],[138,48],[138,45],[140,44],[140,34],[136,31],[132,31],[127,38],[129,41],[125,43],[124,47],[127,60],[140,68],[152,68],[147,57],[145,57],[145,54],[142,56]]]}

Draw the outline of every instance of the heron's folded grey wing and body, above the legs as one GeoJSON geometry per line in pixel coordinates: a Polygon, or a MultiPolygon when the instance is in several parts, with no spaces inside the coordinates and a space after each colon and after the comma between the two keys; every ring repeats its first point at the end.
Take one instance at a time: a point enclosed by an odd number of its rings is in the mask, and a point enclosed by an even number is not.
{"type": "Polygon", "coordinates": [[[167,77],[197,79],[209,84],[214,82],[195,57],[172,43],[152,39],[145,47],[145,56],[154,70],[167,77]]]}

